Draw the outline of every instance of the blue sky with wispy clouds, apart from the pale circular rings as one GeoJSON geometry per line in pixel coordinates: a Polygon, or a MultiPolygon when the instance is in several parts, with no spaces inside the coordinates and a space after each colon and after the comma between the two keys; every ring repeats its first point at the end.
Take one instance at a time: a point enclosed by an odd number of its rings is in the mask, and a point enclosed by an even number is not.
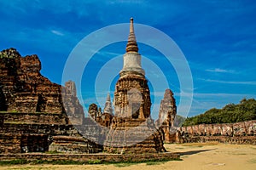
{"type": "MultiPolygon", "coordinates": [[[[24,56],[38,54],[43,65],[41,72],[52,82],[61,83],[68,55],[84,37],[104,26],[127,23],[133,17],[135,23],[165,32],[183,51],[194,82],[189,116],[238,103],[242,98],[256,98],[253,0],[0,0],[0,5],[0,49],[17,48],[24,56]]],[[[165,65],[164,56],[153,48],[144,44],[139,44],[139,48],[140,54],[154,60],[167,75],[178,105],[182,94],[172,65],[165,65]]],[[[125,54],[125,42],[102,48],[90,60],[86,67],[90,76],[84,76],[82,82],[85,106],[95,99],[91,88],[96,72],[110,59],[121,59],[121,54],[125,54]]],[[[101,97],[98,104],[102,105],[108,92],[113,98],[117,78],[112,77],[108,91],[97,92],[101,97]]],[[[156,101],[162,98],[157,93],[151,97],[156,101]]],[[[183,115],[183,111],[179,114],[183,115]]],[[[153,117],[156,115],[154,111],[153,117]]]]}

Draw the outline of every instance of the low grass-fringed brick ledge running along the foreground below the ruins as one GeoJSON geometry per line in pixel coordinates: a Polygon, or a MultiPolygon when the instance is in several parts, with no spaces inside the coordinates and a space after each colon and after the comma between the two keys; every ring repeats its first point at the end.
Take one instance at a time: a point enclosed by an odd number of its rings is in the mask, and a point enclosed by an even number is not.
{"type": "Polygon", "coordinates": [[[177,153],[148,153],[148,154],[0,154],[0,161],[10,161],[22,159],[26,161],[90,161],[101,162],[125,162],[125,161],[157,161],[175,160],[180,156],[177,153]]]}

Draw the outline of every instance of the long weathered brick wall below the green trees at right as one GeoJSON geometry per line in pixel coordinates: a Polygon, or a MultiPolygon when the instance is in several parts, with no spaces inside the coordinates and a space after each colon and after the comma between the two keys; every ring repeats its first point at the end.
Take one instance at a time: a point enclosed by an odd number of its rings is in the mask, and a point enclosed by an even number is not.
{"type": "Polygon", "coordinates": [[[171,143],[220,142],[256,144],[256,120],[222,124],[172,127],[171,143]]]}

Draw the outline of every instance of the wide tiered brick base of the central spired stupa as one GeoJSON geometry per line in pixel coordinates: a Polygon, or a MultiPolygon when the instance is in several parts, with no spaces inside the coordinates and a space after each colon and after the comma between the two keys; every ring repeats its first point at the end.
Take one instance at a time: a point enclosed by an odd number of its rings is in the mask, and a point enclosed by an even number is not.
{"type": "Polygon", "coordinates": [[[152,119],[113,118],[105,140],[108,153],[135,154],[166,151],[162,134],[154,127],[152,119]]]}

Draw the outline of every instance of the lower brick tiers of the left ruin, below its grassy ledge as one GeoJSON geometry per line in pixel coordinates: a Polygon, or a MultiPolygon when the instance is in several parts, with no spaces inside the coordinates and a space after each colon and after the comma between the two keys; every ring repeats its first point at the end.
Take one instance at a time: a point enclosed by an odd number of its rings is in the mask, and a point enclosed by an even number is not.
{"type": "MultiPolygon", "coordinates": [[[[96,153],[102,146],[84,139],[61,113],[0,112],[0,153],[61,151],[96,153]]],[[[87,121],[88,122],[88,121],[87,121]]],[[[92,128],[83,126],[84,131],[92,128]]],[[[98,130],[93,128],[98,136],[98,130]]],[[[96,140],[95,140],[96,141],[96,140]]]]}

